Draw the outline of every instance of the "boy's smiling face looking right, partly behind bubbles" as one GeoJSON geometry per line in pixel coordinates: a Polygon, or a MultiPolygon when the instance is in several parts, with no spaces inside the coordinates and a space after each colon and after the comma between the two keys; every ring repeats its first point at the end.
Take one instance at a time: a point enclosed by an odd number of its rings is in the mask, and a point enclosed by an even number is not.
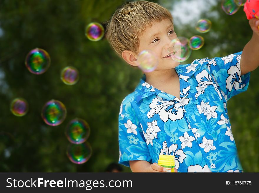
{"type": "Polygon", "coordinates": [[[172,51],[171,40],[177,38],[174,26],[170,19],[154,22],[151,28],[147,27],[140,37],[139,53],[143,50],[153,51],[158,58],[158,65],[155,71],[175,68],[180,63],[171,57],[165,58],[172,51]]]}

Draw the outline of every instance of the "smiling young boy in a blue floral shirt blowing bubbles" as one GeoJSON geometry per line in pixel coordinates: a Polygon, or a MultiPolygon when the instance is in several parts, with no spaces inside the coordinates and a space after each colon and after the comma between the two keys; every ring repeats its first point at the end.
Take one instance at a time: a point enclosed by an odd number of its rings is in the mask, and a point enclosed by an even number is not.
{"type": "Polygon", "coordinates": [[[153,51],[159,60],[122,101],[120,164],[132,172],[164,172],[157,160],[166,154],[175,156],[178,172],[243,172],[226,104],[247,90],[250,71],[259,65],[258,21],[249,21],[253,36],[243,53],[178,66],[167,57],[177,38],[167,9],[136,1],[114,13],[107,38],[117,54],[132,66],[139,65],[142,50],[153,51]]]}

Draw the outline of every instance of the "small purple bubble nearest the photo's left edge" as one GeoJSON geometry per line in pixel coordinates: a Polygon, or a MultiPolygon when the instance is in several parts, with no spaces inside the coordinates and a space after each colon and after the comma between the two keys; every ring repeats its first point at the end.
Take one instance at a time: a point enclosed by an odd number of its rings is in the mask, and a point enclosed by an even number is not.
{"type": "Polygon", "coordinates": [[[16,98],[11,102],[11,112],[18,117],[26,115],[29,110],[29,105],[24,98],[16,98]]]}

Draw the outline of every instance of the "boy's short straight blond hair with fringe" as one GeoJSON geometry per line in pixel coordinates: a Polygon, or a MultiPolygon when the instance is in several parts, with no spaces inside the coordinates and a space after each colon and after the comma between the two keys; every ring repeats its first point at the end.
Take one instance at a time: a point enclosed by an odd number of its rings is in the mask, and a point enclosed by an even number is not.
{"type": "Polygon", "coordinates": [[[140,36],[153,22],[170,19],[171,13],[161,5],[149,1],[127,2],[115,11],[108,22],[106,37],[116,53],[122,57],[124,50],[138,54],[140,36]]]}

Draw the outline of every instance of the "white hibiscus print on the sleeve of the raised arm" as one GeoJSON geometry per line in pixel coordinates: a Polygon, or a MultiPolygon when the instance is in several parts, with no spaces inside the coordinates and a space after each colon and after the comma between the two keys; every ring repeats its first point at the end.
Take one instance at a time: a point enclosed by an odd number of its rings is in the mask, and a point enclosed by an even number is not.
{"type": "Polygon", "coordinates": [[[241,89],[245,86],[242,85],[242,80],[241,80],[241,72],[240,72],[240,64],[237,63],[236,66],[231,66],[228,69],[228,78],[226,80],[226,88],[231,91],[233,86],[235,88],[235,90],[241,89]]]}

